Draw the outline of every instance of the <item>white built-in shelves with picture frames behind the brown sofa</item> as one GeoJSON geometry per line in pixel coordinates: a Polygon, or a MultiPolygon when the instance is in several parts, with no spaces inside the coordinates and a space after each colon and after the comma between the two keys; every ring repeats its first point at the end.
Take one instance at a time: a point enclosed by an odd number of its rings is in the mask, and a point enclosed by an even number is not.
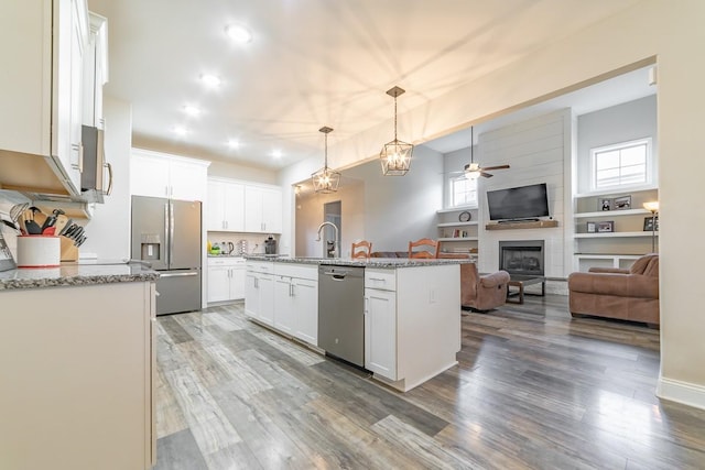
{"type": "MultiPolygon", "coordinates": [[[[643,204],[658,199],[654,187],[574,196],[574,271],[593,266],[628,269],[640,255],[651,252],[652,232],[643,230],[644,219],[650,219],[651,212],[643,204]],[[628,207],[601,210],[604,199],[614,203],[627,197],[630,198],[628,207]],[[588,225],[594,231],[588,231],[588,225]],[[603,231],[608,225],[611,231],[603,231]]],[[[657,231],[657,242],[658,237],[657,231]]]]}

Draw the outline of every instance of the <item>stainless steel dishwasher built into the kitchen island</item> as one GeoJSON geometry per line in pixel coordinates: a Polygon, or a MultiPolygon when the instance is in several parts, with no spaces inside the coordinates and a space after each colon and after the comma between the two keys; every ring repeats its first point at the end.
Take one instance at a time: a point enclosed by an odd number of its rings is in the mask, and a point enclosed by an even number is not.
{"type": "Polygon", "coordinates": [[[318,266],[318,347],[365,367],[365,267],[318,266]]]}

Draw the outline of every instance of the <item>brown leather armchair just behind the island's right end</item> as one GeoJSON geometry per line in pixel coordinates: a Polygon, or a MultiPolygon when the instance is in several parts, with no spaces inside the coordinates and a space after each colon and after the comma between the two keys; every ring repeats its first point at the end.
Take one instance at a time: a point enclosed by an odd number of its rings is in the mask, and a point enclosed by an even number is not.
{"type": "Polygon", "coordinates": [[[509,273],[497,271],[479,275],[475,263],[460,264],[460,305],[475,310],[491,310],[507,302],[509,273]]]}

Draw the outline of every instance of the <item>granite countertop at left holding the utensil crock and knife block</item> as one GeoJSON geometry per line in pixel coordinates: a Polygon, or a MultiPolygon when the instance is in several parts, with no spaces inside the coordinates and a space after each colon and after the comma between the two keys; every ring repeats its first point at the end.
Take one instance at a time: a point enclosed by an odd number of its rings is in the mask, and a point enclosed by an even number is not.
{"type": "Polygon", "coordinates": [[[77,285],[151,282],[159,273],[141,263],[96,261],[91,264],[62,263],[61,267],[25,267],[0,272],[0,291],[77,285]]]}

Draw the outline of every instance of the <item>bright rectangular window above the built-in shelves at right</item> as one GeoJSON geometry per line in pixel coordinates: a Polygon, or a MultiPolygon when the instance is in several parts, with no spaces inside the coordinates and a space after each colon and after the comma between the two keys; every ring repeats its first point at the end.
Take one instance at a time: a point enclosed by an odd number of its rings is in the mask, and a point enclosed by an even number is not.
{"type": "Polygon", "coordinates": [[[590,150],[593,189],[650,183],[651,139],[590,150]]]}

